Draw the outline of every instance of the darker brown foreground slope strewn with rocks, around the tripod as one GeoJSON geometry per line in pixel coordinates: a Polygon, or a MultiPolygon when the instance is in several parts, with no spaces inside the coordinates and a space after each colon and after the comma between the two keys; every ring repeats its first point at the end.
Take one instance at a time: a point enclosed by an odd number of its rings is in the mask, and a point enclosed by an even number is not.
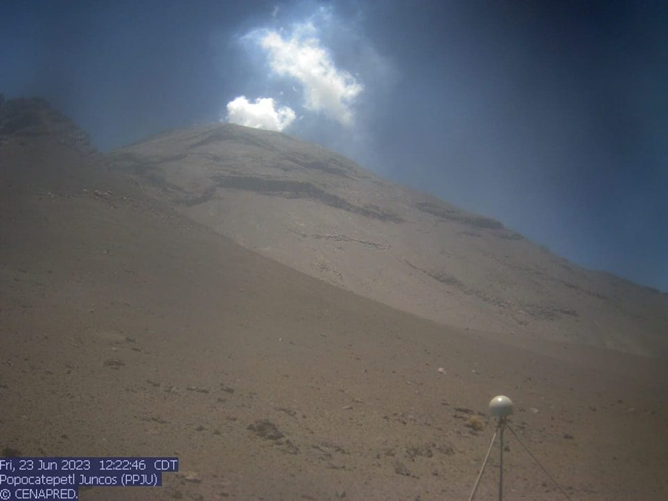
{"type": "MultiPolygon", "coordinates": [[[[110,172],[44,102],[0,108],[0,223],[1,454],[180,458],[81,500],[464,499],[498,393],[573,500],[668,496],[659,360],[556,360],[294,271],[110,172]]],[[[507,445],[507,493],[562,499],[507,445]]]]}

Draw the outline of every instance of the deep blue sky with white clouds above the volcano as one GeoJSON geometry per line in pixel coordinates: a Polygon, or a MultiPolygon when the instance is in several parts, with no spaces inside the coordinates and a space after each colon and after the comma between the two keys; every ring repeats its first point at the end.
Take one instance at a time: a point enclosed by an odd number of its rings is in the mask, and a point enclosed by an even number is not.
{"type": "Polygon", "coordinates": [[[668,291],[668,4],[13,1],[0,92],[102,150],[282,129],[668,291]]]}

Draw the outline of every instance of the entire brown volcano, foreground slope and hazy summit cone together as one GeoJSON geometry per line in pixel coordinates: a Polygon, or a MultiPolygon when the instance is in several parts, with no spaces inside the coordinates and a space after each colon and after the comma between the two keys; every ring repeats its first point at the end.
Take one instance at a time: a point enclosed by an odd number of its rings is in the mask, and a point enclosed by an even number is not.
{"type": "MultiPolygon", "coordinates": [[[[658,292],[233,125],[101,154],[8,100],[0,191],[2,455],[180,459],[81,499],[463,499],[499,394],[572,499],[668,495],[658,292]]],[[[507,495],[562,499],[506,445],[507,495]]]]}

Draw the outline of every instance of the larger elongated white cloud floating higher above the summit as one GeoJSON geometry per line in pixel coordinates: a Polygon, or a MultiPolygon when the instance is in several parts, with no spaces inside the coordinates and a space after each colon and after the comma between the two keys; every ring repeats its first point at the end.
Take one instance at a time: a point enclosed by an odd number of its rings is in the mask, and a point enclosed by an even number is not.
{"type": "Polygon", "coordinates": [[[292,77],[303,86],[306,109],[321,111],[342,125],[350,125],[351,104],[364,87],[349,72],[336,67],[315,33],[311,23],[296,25],[287,38],[267,30],[260,35],[260,46],[267,51],[274,73],[292,77]]]}

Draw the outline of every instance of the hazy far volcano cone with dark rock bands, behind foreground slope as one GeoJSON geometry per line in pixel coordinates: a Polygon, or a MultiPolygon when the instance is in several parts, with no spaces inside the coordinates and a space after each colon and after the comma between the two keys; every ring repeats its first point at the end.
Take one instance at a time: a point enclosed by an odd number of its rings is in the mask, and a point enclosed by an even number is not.
{"type": "Polygon", "coordinates": [[[285,134],[207,125],[109,158],[242,246],[394,308],[534,349],[668,355],[668,296],[285,134]]]}

